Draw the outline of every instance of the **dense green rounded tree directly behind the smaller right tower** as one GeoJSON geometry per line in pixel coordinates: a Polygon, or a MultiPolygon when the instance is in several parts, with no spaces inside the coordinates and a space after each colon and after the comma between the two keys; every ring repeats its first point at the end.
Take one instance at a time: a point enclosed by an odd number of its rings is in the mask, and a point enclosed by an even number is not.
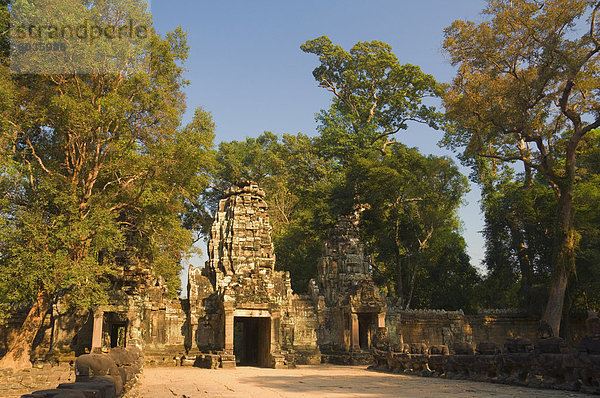
{"type": "Polygon", "coordinates": [[[434,256],[443,236],[458,228],[457,208],[466,178],[447,158],[423,156],[396,144],[380,158],[356,158],[347,174],[364,211],[361,230],[379,273],[387,275],[388,292],[411,306],[417,277],[434,256]]]}

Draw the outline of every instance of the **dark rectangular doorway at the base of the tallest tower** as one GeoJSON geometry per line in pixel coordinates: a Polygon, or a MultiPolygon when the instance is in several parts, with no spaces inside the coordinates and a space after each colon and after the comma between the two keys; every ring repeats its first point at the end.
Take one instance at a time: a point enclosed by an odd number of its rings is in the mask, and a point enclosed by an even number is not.
{"type": "Polygon", "coordinates": [[[238,366],[269,366],[271,319],[235,317],[233,353],[238,366]]]}

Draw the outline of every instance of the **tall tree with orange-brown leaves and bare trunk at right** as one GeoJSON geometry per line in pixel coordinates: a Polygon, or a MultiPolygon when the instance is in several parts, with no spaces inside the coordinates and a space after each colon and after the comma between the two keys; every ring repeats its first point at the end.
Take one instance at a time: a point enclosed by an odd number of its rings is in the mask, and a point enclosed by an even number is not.
{"type": "Polygon", "coordinates": [[[596,17],[589,0],[490,0],[488,21],[455,21],[444,49],[458,74],[444,97],[446,143],[465,157],[522,163],[556,198],[553,281],[543,319],[559,333],[578,234],[577,157],[600,127],[596,17]],[[583,26],[582,26],[583,25],[583,26]]]}

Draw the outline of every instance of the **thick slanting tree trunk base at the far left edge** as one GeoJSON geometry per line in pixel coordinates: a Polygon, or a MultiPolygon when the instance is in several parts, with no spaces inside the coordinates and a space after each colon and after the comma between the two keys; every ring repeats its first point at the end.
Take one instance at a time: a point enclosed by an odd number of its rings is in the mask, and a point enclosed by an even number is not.
{"type": "Polygon", "coordinates": [[[33,340],[50,309],[50,297],[45,291],[38,292],[23,325],[15,335],[6,355],[0,360],[0,369],[20,370],[31,367],[33,340]]]}

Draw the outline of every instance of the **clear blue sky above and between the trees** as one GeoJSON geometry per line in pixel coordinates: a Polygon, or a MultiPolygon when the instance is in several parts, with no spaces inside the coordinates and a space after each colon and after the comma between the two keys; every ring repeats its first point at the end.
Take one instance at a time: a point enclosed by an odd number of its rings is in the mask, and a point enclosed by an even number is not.
{"type": "MultiPolygon", "coordinates": [[[[153,0],[151,10],[159,32],[178,25],[188,32],[185,120],[204,107],[220,142],[263,131],[316,134],[314,115],[329,106],[331,95],[313,79],[317,57],[300,45],[321,35],[347,50],[358,41],[384,41],[401,63],[449,82],[455,70],[441,51],[443,29],[456,19],[481,20],[484,5],[483,0],[153,0]]],[[[426,126],[413,124],[396,136],[422,153],[455,158],[437,146],[442,133],[426,126]]],[[[471,184],[460,209],[475,266],[484,252],[479,199],[471,184]]]]}

